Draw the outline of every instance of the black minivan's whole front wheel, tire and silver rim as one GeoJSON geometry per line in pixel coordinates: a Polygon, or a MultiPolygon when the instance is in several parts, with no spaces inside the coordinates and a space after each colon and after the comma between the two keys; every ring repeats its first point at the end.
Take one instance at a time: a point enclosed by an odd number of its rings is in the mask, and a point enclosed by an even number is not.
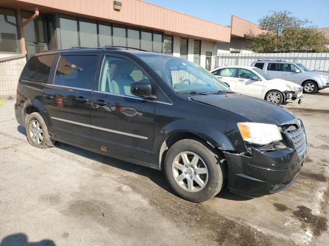
{"type": "Polygon", "coordinates": [[[214,197],[221,191],[224,180],[225,169],[218,157],[218,154],[208,148],[206,143],[203,144],[194,139],[177,141],[168,150],[164,162],[164,171],[169,185],[180,197],[192,202],[203,202],[214,197]],[[182,155],[185,159],[187,157],[187,162],[183,160],[182,155]],[[192,161],[194,157],[199,158],[197,162],[194,162],[195,165],[192,161]],[[185,165],[181,165],[182,163],[185,165]],[[181,169],[176,168],[177,165],[180,165],[181,169]],[[199,185],[200,182],[203,187],[199,185]]]}

